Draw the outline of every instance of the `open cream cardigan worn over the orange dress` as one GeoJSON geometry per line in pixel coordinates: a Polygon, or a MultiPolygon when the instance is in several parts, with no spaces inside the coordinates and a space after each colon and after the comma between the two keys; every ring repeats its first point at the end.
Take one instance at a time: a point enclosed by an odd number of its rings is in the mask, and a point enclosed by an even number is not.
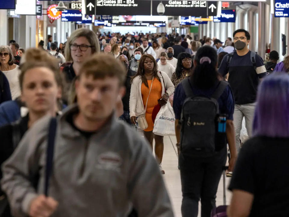
{"type": "MultiPolygon", "coordinates": [[[[169,76],[162,72],[157,72],[157,75],[160,77],[160,83],[162,84],[162,96],[166,93],[171,96],[175,91],[175,86],[172,81],[169,79],[169,76]]],[[[144,115],[144,102],[141,97],[141,76],[135,77],[132,81],[132,87],[130,89],[130,97],[129,97],[129,116],[138,117],[139,115],[144,115]]]]}

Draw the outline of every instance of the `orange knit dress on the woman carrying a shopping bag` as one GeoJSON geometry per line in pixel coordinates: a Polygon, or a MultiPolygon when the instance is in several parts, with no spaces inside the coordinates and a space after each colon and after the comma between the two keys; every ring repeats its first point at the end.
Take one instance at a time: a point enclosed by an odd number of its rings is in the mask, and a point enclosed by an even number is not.
{"type": "Polygon", "coordinates": [[[148,99],[148,106],[145,112],[145,119],[148,122],[148,128],[144,130],[146,132],[153,131],[154,129],[154,123],[151,118],[151,115],[153,113],[154,107],[159,103],[157,100],[159,100],[162,97],[162,89],[163,89],[162,84],[156,78],[154,78],[152,88],[151,88],[151,82],[152,80],[148,80],[148,87],[145,86],[144,83],[141,84],[141,97],[142,97],[142,101],[144,102],[144,108],[145,108],[145,103],[147,102],[147,99],[148,99]],[[148,93],[150,92],[150,88],[151,88],[151,93],[148,98],[148,93]]]}

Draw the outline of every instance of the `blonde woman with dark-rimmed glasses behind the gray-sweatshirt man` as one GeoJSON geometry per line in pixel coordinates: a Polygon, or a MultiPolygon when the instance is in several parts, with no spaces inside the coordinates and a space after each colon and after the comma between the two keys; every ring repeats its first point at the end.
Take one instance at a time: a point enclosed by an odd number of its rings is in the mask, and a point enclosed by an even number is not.
{"type": "Polygon", "coordinates": [[[65,59],[68,63],[64,63],[61,67],[66,81],[64,93],[70,92],[69,97],[64,96],[65,103],[75,101],[75,77],[79,74],[82,62],[96,52],[100,52],[100,44],[93,31],[81,28],[71,33],[65,45],[65,59]]]}

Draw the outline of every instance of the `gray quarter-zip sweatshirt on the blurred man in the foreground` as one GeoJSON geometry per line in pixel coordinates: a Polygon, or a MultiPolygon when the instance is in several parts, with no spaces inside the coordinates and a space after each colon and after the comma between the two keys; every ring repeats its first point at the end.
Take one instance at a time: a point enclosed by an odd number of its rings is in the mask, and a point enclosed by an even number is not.
{"type": "MultiPolygon", "coordinates": [[[[51,216],[126,217],[131,207],[139,217],[173,216],[148,143],[115,117],[87,139],[67,121],[77,112],[74,105],[57,120],[48,194],[59,206],[51,216]]],[[[31,201],[44,193],[49,121],[46,116],[35,123],[2,166],[14,217],[26,217],[31,201]]]]}

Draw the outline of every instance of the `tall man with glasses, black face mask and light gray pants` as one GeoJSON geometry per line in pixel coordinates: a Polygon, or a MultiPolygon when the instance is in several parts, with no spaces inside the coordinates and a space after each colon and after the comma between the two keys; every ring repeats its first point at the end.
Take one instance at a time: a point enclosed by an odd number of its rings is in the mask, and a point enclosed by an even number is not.
{"type": "Polygon", "coordinates": [[[219,73],[229,73],[230,83],[235,97],[234,125],[237,152],[240,151],[240,131],[245,117],[248,136],[252,136],[252,124],[255,110],[257,87],[260,78],[266,76],[262,57],[248,49],[250,34],[244,29],[233,34],[236,52],[224,56],[219,73]]]}

